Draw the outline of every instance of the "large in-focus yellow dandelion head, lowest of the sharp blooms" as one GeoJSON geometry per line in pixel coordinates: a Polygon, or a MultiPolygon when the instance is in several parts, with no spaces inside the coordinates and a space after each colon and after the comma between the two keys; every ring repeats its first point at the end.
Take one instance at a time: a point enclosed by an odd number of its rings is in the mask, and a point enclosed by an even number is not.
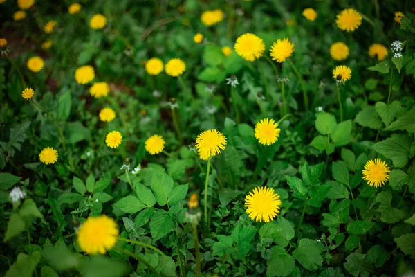
{"type": "Polygon", "coordinates": [[[245,198],[246,213],[252,220],[270,222],[279,214],[281,208],[279,195],[273,188],[257,187],[245,198]]]}

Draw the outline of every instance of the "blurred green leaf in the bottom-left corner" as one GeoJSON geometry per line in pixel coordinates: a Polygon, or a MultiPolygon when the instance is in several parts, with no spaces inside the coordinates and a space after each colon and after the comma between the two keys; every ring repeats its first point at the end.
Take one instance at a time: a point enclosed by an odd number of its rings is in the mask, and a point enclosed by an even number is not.
{"type": "Polygon", "coordinates": [[[42,258],[42,255],[39,251],[35,251],[30,255],[19,253],[16,262],[6,272],[5,277],[32,277],[40,258],[42,258]]]}

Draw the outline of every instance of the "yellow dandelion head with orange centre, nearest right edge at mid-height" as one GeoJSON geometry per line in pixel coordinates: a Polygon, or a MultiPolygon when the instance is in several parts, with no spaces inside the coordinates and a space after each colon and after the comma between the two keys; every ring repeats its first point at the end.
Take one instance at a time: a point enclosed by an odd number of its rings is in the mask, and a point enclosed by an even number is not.
{"type": "Polygon", "coordinates": [[[367,181],[369,186],[383,186],[389,179],[389,166],[385,161],[377,158],[375,160],[369,160],[365,164],[365,170],[363,170],[363,179],[367,181]]]}

